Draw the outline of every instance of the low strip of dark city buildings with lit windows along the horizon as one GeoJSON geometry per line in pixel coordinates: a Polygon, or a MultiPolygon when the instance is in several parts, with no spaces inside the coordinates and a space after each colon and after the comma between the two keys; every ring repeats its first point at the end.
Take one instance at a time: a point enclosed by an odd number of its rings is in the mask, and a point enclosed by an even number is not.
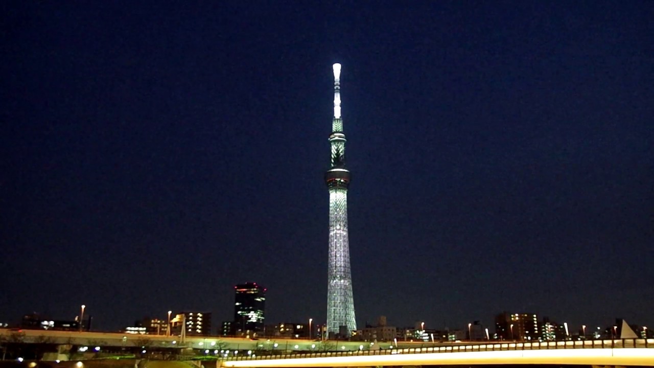
{"type": "MultiPolygon", "coordinates": [[[[264,303],[265,303],[265,295],[266,295],[267,289],[265,287],[262,287],[261,285],[258,285],[256,282],[247,282],[245,284],[239,284],[235,285],[235,299],[236,303],[234,306],[234,319],[230,321],[224,321],[224,322],[218,322],[216,325],[211,324],[211,314],[212,312],[201,312],[198,310],[187,310],[183,312],[175,311],[173,313],[172,310],[168,311],[168,320],[170,325],[171,330],[173,331],[173,335],[180,335],[181,331],[181,326],[183,325],[184,320],[183,316],[186,316],[187,321],[193,321],[190,323],[190,325],[186,325],[188,327],[188,333],[186,333],[186,336],[220,336],[220,335],[226,335],[226,336],[250,336],[252,333],[256,333],[259,337],[265,337],[265,336],[271,336],[267,334],[266,329],[267,327],[273,327],[276,325],[279,325],[279,323],[290,323],[292,325],[297,324],[298,329],[308,327],[308,329],[312,329],[314,333],[319,333],[320,329],[324,327],[326,329],[327,323],[322,322],[320,320],[315,320],[314,318],[309,318],[309,321],[303,321],[301,317],[293,317],[290,320],[286,320],[283,322],[280,321],[269,321],[264,323],[264,303]],[[241,304],[247,304],[244,306],[241,306],[241,304]],[[243,314],[242,312],[245,311],[246,314],[243,314]],[[197,312],[197,313],[196,313],[197,312]],[[198,316],[194,317],[194,313],[196,313],[198,316]],[[245,322],[246,320],[241,318],[242,316],[250,316],[252,320],[248,320],[247,322],[247,328],[245,328],[245,322]],[[256,316],[256,317],[255,317],[256,316]],[[199,321],[196,321],[196,318],[199,318],[199,321]],[[205,325],[202,327],[202,320],[204,320],[205,325]],[[237,323],[237,320],[242,320],[241,323],[243,324],[243,328],[239,328],[236,325],[239,325],[240,323],[237,323]],[[199,322],[199,325],[194,326],[194,322],[199,322]],[[250,323],[252,322],[252,323],[250,323]],[[226,323],[228,323],[226,325],[226,323]],[[236,325],[234,325],[236,324],[236,325]],[[301,327],[303,325],[303,327],[301,327]],[[322,326],[322,327],[321,327],[322,326]],[[312,328],[313,327],[313,328],[312,328]],[[244,329],[245,328],[245,329],[244,329]],[[194,330],[195,329],[195,330],[194,330]]],[[[82,304],[81,310],[85,310],[86,305],[82,304]]],[[[516,310],[513,310],[513,312],[516,312],[516,310]]],[[[622,318],[621,316],[616,316],[613,318],[603,318],[604,322],[602,323],[588,323],[588,320],[582,320],[581,323],[575,322],[570,322],[570,320],[564,316],[559,316],[557,318],[551,318],[551,315],[547,314],[540,314],[540,313],[534,313],[534,311],[529,311],[526,312],[525,310],[522,310],[518,313],[513,314],[512,312],[508,312],[507,310],[503,310],[502,312],[499,311],[485,311],[483,314],[492,314],[493,319],[491,320],[477,320],[475,318],[468,319],[470,322],[467,323],[467,332],[468,334],[472,335],[475,337],[477,340],[483,340],[483,339],[508,339],[509,335],[514,335],[514,336],[521,336],[523,340],[532,340],[531,337],[534,337],[534,339],[538,339],[538,337],[543,337],[545,340],[547,338],[551,338],[553,335],[557,334],[564,334],[568,337],[574,337],[574,336],[580,336],[580,335],[586,335],[588,334],[589,337],[593,337],[595,334],[598,335],[606,335],[611,334],[611,333],[616,333],[617,331],[621,331],[625,325],[628,323],[628,327],[632,329],[632,331],[636,331],[636,333],[644,333],[643,331],[649,331],[649,327],[647,327],[647,324],[639,323],[642,321],[639,320],[630,320],[627,322],[625,318],[622,318]],[[531,322],[533,321],[533,322],[531,322]],[[611,321],[610,323],[605,323],[606,321],[611,321]],[[532,323],[530,326],[531,327],[526,327],[529,325],[529,323],[532,323]],[[509,327],[510,325],[510,327],[509,327]],[[515,326],[515,328],[514,328],[515,326]],[[540,327],[539,327],[540,326],[540,327]],[[471,327],[474,327],[471,330],[471,327]],[[485,334],[484,331],[481,329],[482,327],[485,327],[485,334]],[[613,327],[613,329],[611,329],[613,327]],[[510,333],[509,333],[510,329],[510,333]],[[533,331],[532,331],[533,330],[533,331]],[[613,332],[611,332],[613,330],[613,332]],[[472,334],[472,332],[475,332],[472,334]],[[583,332],[582,332],[583,331],[583,332]],[[490,333],[490,335],[488,335],[490,333]],[[494,337],[493,337],[494,335],[494,337]],[[551,335],[551,336],[549,336],[551,335]],[[531,336],[531,337],[530,337],[531,336]]],[[[90,325],[92,323],[92,320],[94,319],[92,315],[84,315],[82,314],[82,318],[88,323],[84,323],[84,331],[104,331],[104,332],[123,332],[125,331],[126,333],[136,333],[134,331],[137,331],[137,329],[142,329],[143,331],[148,330],[148,333],[153,334],[153,335],[167,335],[167,328],[168,327],[162,327],[161,323],[165,323],[165,318],[159,318],[158,314],[146,314],[143,316],[143,318],[138,317],[134,318],[135,323],[130,323],[130,324],[124,324],[120,329],[106,329],[106,328],[100,328],[100,329],[90,329],[90,325]],[[86,318],[84,318],[86,316],[86,318]],[[145,323],[153,323],[152,325],[148,324],[145,326],[145,323]],[[126,327],[127,326],[127,327],[126,327]],[[130,331],[131,329],[131,331],[130,331]],[[149,331],[152,330],[152,331],[149,331]]],[[[71,316],[69,321],[66,320],[67,317],[63,317],[63,320],[61,316],[50,316],[47,314],[41,314],[39,312],[32,312],[31,314],[24,314],[22,316],[22,322],[19,322],[17,318],[8,318],[5,320],[0,320],[0,327],[4,328],[27,328],[27,329],[48,329],[48,326],[50,327],[56,327],[54,329],[60,329],[64,331],[78,331],[78,328],[81,330],[80,327],[78,327],[78,320],[80,316],[74,316],[74,318],[71,316]],[[41,325],[42,321],[46,321],[50,323],[49,325],[46,325],[44,327],[41,325]],[[54,323],[54,324],[53,324],[54,323]],[[68,324],[67,324],[68,323],[68,324]],[[69,325],[73,325],[73,327],[70,327],[69,325]],[[63,326],[63,327],[62,327],[63,326]]],[[[432,323],[432,322],[426,322],[425,320],[415,320],[412,323],[388,323],[387,316],[377,316],[377,323],[371,322],[369,320],[366,320],[366,322],[360,326],[356,331],[360,335],[360,333],[366,334],[366,330],[370,329],[371,327],[387,327],[387,326],[393,326],[393,329],[396,329],[396,333],[398,336],[402,334],[404,330],[406,330],[407,333],[411,331],[411,336],[418,330],[423,330],[423,332],[426,331],[449,331],[450,333],[455,333],[455,335],[452,335],[451,337],[456,336],[456,339],[459,339],[462,333],[466,332],[466,326],[464,325],[454,325],[454,326],[448,326],[448,325],[438,325],[438,323],[432,323]]],[[[374,319],[373,319],[374,320],[374,319]]],[[[392,321],[391,321],[392,322],[392,321]]],[[[283,325],[282,325],[283,327],[283,325]]],[[[274,328],[270,328],[269,331],[273,331],[274,328]]],[[[186,330],[185,330],[186,331],[186,330]]],[[[354,331],[354,330],[353,330],[354,331]]],[[[254,335],[254,336],[256,336],[254,335]]],[[[468,335],[466,335],[468,336],[468,335]]],[[[343,336],[336,336],[333,335],[332,337],[335,337],[336,339],[349,339],[348,337],[343,337],[343,336]]],[[[405,336],[406,337],[406,336],[405,336]]],[[[426,338],[426,335],[423,336],[426,338]]],[[[411,339],[414,339],[415,337],[411,337],[411,339]]],[[[355,339],[361,339],[361,337],[356,337],[355,339]]],[[[463,338],[460,338],[463,339],[463,338]]],[[[468,337],[466,337],[468,339],[468,337]]]]}

